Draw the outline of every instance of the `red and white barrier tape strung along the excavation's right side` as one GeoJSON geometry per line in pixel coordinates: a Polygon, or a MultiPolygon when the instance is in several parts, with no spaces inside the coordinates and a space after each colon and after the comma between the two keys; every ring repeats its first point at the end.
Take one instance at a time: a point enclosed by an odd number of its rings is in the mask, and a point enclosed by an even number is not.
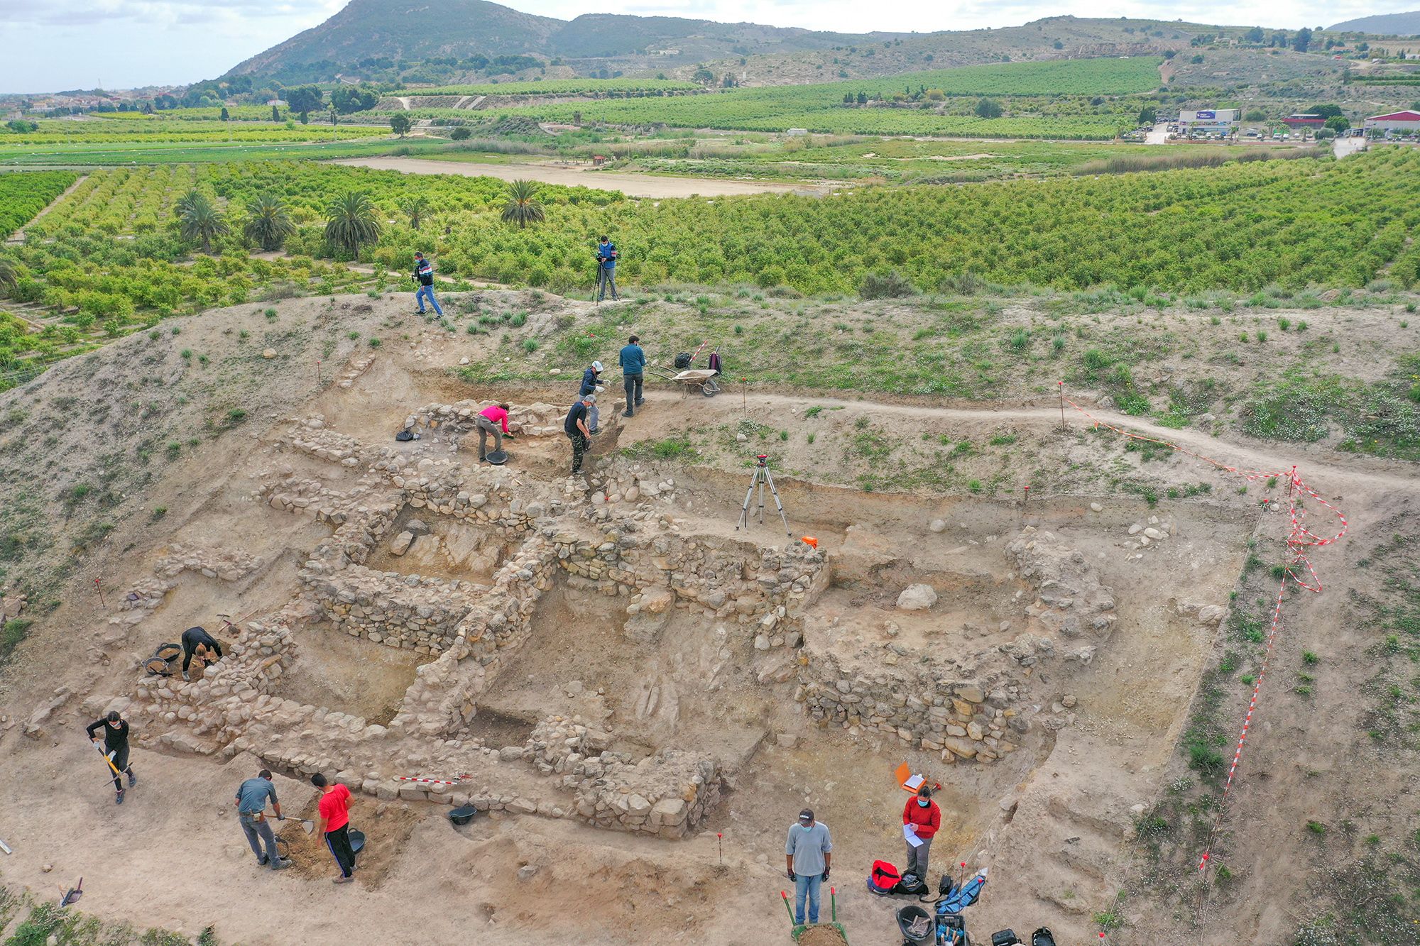
{"type": "MultiPolygon", "coordinates": [[[[1242,732],[1238,733],[1237,747],[1233,750],[1233,763],[1228,766],[1228,777],[1227,777],[1227,780],[1223,784],[1223,794],[1218,798],[1218,808],[1217,808],[1217,814],[1214,815],[1214,820],[1213,820],[1213,828],[1208,831],[1208,844],[1207,844],[1207,847],[1203,851],[1203,857],[1198,859],[1198,869],[1203,871],[1203,869],[1207,868],[1208,859],[1213,857],[1213,844],[1217,839],[1218,827],[1223,824],[1223,814],[1224,814],[1224,810],[1225,810],[1225,805],[1227,805],[1228,793],[1233,790],[1233,780],[1234,780],[1234,776],[1237,776],[1238,763],[1242,761],[1242,746],[1247,743],[1247,734],[1252,729],[1252,714],[1257,712],[1257,700],[1258,700],[1258,696],[1262,692],[1262,679],[1267,676],[1267,668],[1268,668],[1268,663],[1272,659],[1272,645],[1274,645],[1274,642],[1277,639],[1278,629],[1281,629],[1281,626],[1282,626],[1282,601],[1284,601],[1284,598],[1287,595],[1287,582],[1288,582],[1288,580],[1291,580],[1294,584],[1296,584],[1298,588],[1305,588],[1306,591],[1311,591],[1314,594],[1321,594],[1321,591],[1322,591],[1322,581],[1316,575],[1316,570],[1312,567],[1312,561],[1311,561],[1311,558],[1306,557],[1306,554],[1304,553],[1304,550],[1306,547],[1331,545],[1332,543],[1340,541],[1340,538],[1350,528],[1350,524],[1346,521],[1346,516],[1339,509],[1336,509],[1333,504],[1331,504],[1326,500],[1323,500],[1316,493],[1316,490],[1314,490],[1311,486],[1308,486],[1302,480],[1302,477],[1298,476],[1295,466],[1291,470],[1284,472],[1284,473],[1264,473],[1261,470],[1241,470],[1241,469],[1238,469],[1235,466],[1228,466],[1227,463],[1221,463],[1218,460],[1214,460],[1210,456],[1203,456],[1201,453],[1196,453],[1194,450],[1189,450],[1186,447],[1181,447],[1177,443],[1172,443],[1169,440],[1160,440],[1157,437],[1145,436],[1142,433],[1135,433],[1132,430],[1125,430],[1123,428],[1116,428],[1115,425],[1112,425],[1112,423],[1109,423],[1106,420],[1100,420],[1099,418],[1093,416],[1092,413],[1089,413],[1088,411],[1085,411],[1083,408],[1081,408],[1078,403],[1075,403],[1074,401],[1071,401],[1069,398],[1065,396],[1065,382],[1064,381],[1058,382],[1058,385],[1059,385],[1059,393],[1061,393],[1061,403],[1068,403],[1078,413],[1082,413],[1083,416],[1089,418],[1091,423],[1095,425],[1096,430],[1099,428],[1105,428],[1108,430],[1113,430],[1119,436],[1126,437],[1129,440],[1143,440],[1146,443],[1157,443],[1159,446],[1166,446],[1166,447],[1169,447],[1169,449],[1172,449],[1172,450],[1174,450],[1177,453],[1183,453],[1184,456],[1191,456],[1196,460],[1201,460],[1204,463],[1208,463],[1208,464],[1217,467],[1218,470],[1221,470],[1224,473],[1233,473],[1234,476],[1241,476],[1241,477],[1244,477],[1247,480],[1285,479],[1287,483],[1288,483],[1288,489],[1287,489],[1287,507],[1288,509],[1287,509],[1287,511],[1288,511],[1288,518],[1291,521],[1291,530],[1287,534],[1288,562],[1284,565],[1282,580],[1281,580],[1281,584],[1278,585],[1278,589],[1277,589],[1277,602],[1275,602],[1275,605],[1272,608],[1272,624],[1268,628],[1268,632],[1267,632],[1267,646],[1262,651],[1262,665],[1261,665],[1261,668],[1257,672],[1257,680],[1254,680],[1254,683],[1252,683],[1252,699],[1248,702],[1247,716],[1244,716],[1244,719],[1242,719],[1242,732]],[[1308,496],[1308,497],[1311,497],[1316,503],[1319,503],[1322,507],[1325,507],[1326,510],[1329,510],[1336,517],[1336,520],[1340,523],[1340,526],[1339,526],[1339,528],[1338,528],[1338,531],[1336,531],[1335,535],[1323,538],[1323,537],[1318,535],[1316,533],[1314,533],[1311,528],[1306,527],[1306,507],[1304,506],[1304,501],[1302,501],[1304,494],[1308,496]],[[1305,565],[1306,567],[1306,572],[1305,574],[1311,575],[1311,581],[1309,582],[1302,580],[1302,577],[1299,574],[1302,570],[1299,568],[1299,565],[1305,565]]],[[[1264,500],[1264,504],[1267,504],[1267,503],[1269,503],[1269,500],[1264,500]]]]}

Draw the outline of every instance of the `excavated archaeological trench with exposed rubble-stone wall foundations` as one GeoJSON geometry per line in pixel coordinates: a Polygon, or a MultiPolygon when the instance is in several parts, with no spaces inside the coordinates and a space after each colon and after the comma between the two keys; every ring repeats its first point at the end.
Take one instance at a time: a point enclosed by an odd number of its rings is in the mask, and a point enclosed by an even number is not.
{"type": "MultiPolygon", "coordinates": [[[[836,784],[835,828],[869,845],[906,760],[944,784],[954,848],[1047,899],[1108,886],[1127,783],[1173,746],[1251,521],[784,482],[814,548],[736,530],[743,483],[713,470],[479,466],[477,406],[423,408],[409,443],[278,429],[227,487],[243,547],[179,531],[122,602],[129,625],[195,615],[197,582],[263,607],[202,679],[97,702],[170,751],[663,839],[777,832],[794,794],[836,784]],[[1123,787],[1085,800],[1055,763],[1123,744],[1123,787]],[[1056,821],[1075,841],[1041,857],[1056,821]]],[[[517,411],[518,449],[565,447],[558,415],[517,411]]]]}

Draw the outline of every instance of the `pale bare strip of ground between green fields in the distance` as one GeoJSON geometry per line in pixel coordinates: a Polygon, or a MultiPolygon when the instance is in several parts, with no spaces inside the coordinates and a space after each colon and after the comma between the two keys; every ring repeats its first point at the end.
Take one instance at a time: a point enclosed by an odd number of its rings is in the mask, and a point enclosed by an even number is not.
{"type": "Polygon", "coordinates": [[[727,197],[741,193],[826,193],[829,187],[788,185],[764,180],[721,180],[716,178],[660,178],[656,175],[616,173],[591,168],[565,168],[544,163],[486,165],[422,158],[348,158],[335,165],[378,168],[413,175],[464,175],[467,178],[498,178],[501,180],[541,180],[568,187],[619,190],[629,197],[727,197]]]}

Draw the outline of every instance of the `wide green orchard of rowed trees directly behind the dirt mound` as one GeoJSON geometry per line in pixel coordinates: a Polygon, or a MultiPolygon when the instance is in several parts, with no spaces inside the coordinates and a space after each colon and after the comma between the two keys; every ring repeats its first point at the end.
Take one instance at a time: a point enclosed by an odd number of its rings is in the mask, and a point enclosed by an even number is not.
{"type": "Polygon", "coordinates": [[[291,214],[295,230],[285,250],[321,268],[317,259],[335,257],[322,236],[325,209],[345,193],[366,192],[383,230],[361,250],[362,261],[399,271],[419,244],[437,253],[446,276],[554,291],[585,281],[591,239],[602,232],[618,234],[629,284],[852,293],[868,274],[896,270],[923,290],[973,274],[1066,290],[1257,291],[1360,287],[1386,270],[1410,286],[1420,264],[1420,243],[1410,239],[1420,227],[1417,170],[1420,153],[1376,149],[1345,162],[1230,163],[984,189],[865,189],[826,199],[649,202],[541,186],[545,220],[518,229],[498,220],[506,185],[487,178],[287,162],[136,168],[91,173],[28,227],[17,256],[34,273],[21,281],[24,295],[50,293],[51,304],[78,304],[99,321],[236,301],[287,276],[267,264],[253,271],[246,257],[240,223],[258,195],[278,197],[291,214]],[[172,202],[192,187],[212,193],[231,223],[216,256],[196,267],[206,277],[216,266],[220,280],[187,280],[173,268],[192,247],[172,233],[172,202]],[[426,205],[420,234],[400,210],[410,197],[426,205]],[[1377,206],[1387,212],[1376,213],[1377,206]],[[72,294],[82,291],[99,295],[80,303],[72,294]]]}

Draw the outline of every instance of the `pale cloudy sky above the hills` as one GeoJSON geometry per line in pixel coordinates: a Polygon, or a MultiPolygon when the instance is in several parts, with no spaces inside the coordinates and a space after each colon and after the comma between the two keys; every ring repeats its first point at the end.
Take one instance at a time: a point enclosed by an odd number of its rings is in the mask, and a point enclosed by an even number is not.
{"type": "MultiPolygon", "coordinates": [[[[345,0],[0,0],[0,91],[38,92],[193,82],[312,27],[345,0]]],[[[437,9],[437,0],[432,0],[437,9]]],[[[528,13],[571,18],[577,0],[513,0],[528,13]]],[[[1420,9],[1420,0],[897,0],[863,17],[862,0],[626,0],[601,11],[750,20],[862,33],[927,33],[1020,26],[1044,16],[1137,16],[1194,23],[1296,28],[1372,13],[1420,9]]],[[[437,28],[437,27],[435,27],[437,28]]]]}

